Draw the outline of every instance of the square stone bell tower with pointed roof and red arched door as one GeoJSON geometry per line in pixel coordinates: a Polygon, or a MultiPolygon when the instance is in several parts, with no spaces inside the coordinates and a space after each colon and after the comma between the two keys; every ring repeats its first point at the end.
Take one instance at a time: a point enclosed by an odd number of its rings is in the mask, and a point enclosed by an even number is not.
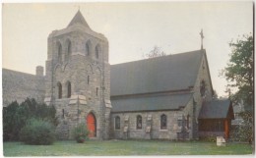
{"type": "Polygon", "coordinates": [[[59,138],[86,124],[90,137],[107,139],[110,121],[108,41],[95,32],[80,11],[63,29],[48,36],[45,99],[57,110],[59,138]]]}

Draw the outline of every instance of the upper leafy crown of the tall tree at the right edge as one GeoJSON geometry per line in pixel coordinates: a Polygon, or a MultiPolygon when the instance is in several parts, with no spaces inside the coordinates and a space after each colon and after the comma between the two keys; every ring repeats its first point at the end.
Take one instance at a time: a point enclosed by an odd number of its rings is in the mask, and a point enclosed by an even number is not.
{"type": "Polygon", "coordinates": [[[241,99],[245,107],[251,110],[253,106],[253,36],[243,35],[229,43],[231,54],[227,67],[222,74],[229,81],[228,87],[237,88],[231,94],[231,99],[237,103],[241,99]]]}

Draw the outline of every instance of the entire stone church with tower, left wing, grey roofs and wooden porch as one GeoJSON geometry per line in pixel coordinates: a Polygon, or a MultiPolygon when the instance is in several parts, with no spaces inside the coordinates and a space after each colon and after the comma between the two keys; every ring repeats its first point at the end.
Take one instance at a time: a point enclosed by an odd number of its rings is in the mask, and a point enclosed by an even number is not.
{"type": "Polygon", "coordinates": [[[228,138],[233,110],[213,99],[205,49],[109,65],[108,40],[80,11],[47,39],[36,75],[2,70],[3,106],[27,97],[53,105],[60,139],[86,124],[95,139],[228,138]]]}

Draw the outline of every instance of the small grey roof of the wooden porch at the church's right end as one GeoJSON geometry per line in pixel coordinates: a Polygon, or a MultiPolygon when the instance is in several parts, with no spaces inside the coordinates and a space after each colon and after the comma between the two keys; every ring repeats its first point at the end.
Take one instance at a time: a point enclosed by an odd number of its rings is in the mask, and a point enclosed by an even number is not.
{"type": "Polygon", "coordinates": [[[229,107],[231,108],[231,106],[230,100],[213,100],[206,102],[201,108],[199,119],[224,119],[227,117],[228,109],[229,107]]]}

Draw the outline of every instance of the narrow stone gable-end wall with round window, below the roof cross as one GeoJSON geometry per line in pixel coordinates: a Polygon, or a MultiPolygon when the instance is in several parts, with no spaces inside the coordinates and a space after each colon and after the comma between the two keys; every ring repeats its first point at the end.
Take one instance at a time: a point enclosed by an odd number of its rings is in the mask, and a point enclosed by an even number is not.
{"type": "Polygon", "coordinates": [[[207,59],[206,59],[206,54],[204,54],[202,61],[201,61],[201,66],[198,71],[198,77],[196,79],[194,88],[194,114],[193,114],[193,137],[198,138],[198,116],[200,113],[200,110],[202,108],[202,104],[204,101],[211,101],[213,98],[213,87],[212,87],[212,82],[210,78],[210,70],[208,67],[207,59]],[[201,96],[200,93],[200,83],[202,80],[205,80],[206,82],[206,95],[201,96]]]}

